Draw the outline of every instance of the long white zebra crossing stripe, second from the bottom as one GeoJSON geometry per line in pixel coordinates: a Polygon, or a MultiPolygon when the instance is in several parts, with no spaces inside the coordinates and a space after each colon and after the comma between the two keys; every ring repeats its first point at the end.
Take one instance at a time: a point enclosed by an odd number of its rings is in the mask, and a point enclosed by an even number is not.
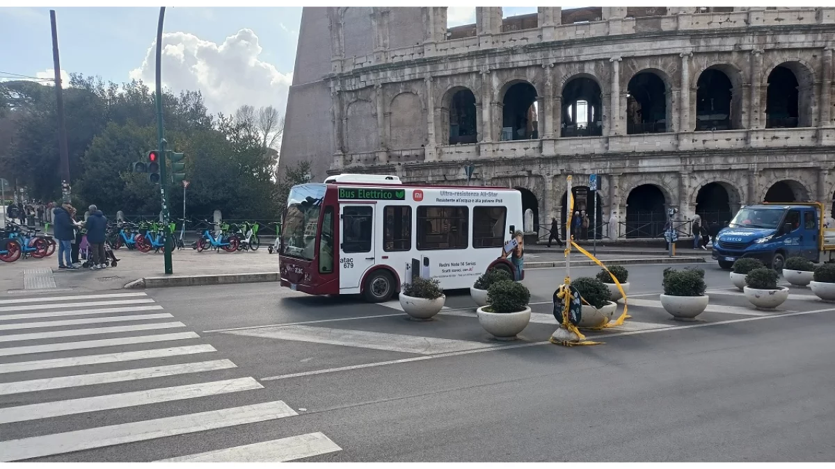
{"type": "Polygon", "coordinates": [[[164,436],[238,426],[257,421],[270,421],[296,415],[298,415],[296,411],[293,411],[283,401],[273,401],[218,411],[99,426],[52,435],[32,436],[20,440],[0,442],[0,461],[19,461],[134,441],[152,440],[164,436]]]}

